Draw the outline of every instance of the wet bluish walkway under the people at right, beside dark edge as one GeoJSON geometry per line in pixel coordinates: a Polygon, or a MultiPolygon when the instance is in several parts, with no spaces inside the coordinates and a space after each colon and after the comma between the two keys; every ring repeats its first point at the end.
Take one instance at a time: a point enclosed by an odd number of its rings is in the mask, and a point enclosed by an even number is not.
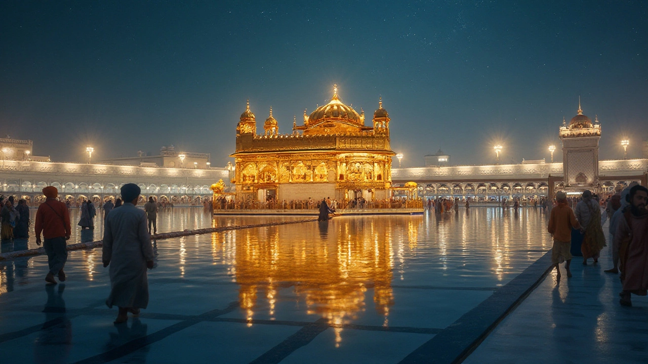
{"type": "Polygon", "coordinates": [[[619,304],[610,245],[598,264],[574,257],[570,279],[552,271],[464,363],[648,363],[648,297],[619,304]]]}

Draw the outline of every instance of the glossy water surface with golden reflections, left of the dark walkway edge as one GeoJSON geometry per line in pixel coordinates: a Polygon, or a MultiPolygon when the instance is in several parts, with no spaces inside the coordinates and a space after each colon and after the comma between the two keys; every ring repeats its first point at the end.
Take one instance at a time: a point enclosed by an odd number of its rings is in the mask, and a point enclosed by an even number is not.
{"type": "MultiPolygon", "coordinates": [[[[184,210],[169,221],[212,224],[184,210]]],[[[70,252],[54,287],[44,256],[0,262],[0,352],[8,363],[397,363],[544,255],[546,219],[480,207],[160,240],[149,306],[121,326],[103,303],[100,249],[70,252]]]]}

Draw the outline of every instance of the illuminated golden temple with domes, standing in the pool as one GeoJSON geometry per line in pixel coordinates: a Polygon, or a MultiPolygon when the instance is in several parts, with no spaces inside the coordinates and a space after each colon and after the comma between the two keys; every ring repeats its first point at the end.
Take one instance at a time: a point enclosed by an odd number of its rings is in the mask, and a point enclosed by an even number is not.
{"type": "Polygon", "coordinates": [[[297,199],[389,198],[391,157],[389,114],[382,98],[373,114],[373,126],[365,126],[358,113],[341,102],[338,87],[326,105],[304,124],[293,120],[292,133],[280,134],[270,115],[264,133],[257,134],[257,120],[249,108],[237,125],[235,177],[238,201],[297,199]]]}

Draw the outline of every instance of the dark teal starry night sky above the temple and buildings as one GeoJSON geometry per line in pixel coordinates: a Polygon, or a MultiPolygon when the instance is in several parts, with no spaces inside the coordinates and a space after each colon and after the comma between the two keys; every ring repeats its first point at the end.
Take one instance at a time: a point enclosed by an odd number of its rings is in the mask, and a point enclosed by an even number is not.
{"type": "Polygon", "coordinates": [[[549,159],[579,96],[601,159],[648,136],[647,1],[3,1],[0,42],[1,136],[54,161],[174,144],[224,166],[248,98],[290,133],[333,84],[367,125],[382,96],[404,167],[549,159]]]}

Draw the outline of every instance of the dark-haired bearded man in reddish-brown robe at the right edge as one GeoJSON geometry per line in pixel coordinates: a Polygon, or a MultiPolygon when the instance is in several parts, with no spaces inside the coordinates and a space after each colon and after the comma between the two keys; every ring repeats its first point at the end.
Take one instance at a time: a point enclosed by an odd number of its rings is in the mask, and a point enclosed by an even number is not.
{"type": "Polygon", "coordinates": [[[648,293],[648,188],[636,185],[628,195],[627,209],[614,233],[621,247],[621,299],[622,306],[632,306],[631,294],[648,293]]]}

